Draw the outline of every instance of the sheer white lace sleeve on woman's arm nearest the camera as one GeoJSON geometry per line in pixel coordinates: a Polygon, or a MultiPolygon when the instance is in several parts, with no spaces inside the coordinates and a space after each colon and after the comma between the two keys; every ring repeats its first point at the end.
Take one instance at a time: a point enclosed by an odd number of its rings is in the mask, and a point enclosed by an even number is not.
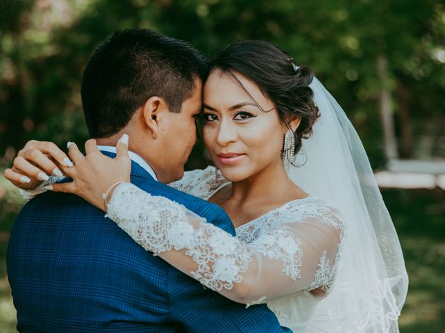
{"type": "Polygon", "coordinates": [[[329,291],[343,238],[339,216],[284,223],[251,244],[161,196],[124,183],[108,216],[146,250],[236,302],[329,291]]]}

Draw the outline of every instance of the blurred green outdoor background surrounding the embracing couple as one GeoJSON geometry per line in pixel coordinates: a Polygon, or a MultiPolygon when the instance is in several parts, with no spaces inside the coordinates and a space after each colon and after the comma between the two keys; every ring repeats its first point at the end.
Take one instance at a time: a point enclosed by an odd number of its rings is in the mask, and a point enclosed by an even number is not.
{"type": "MultiPolygon", "coordinates": [[[[401,332],[445,332],[444,0],[0,0],[0,171],[29,139],[83,144],[83,66],[132,27],[209,57],[260,38],[312,67],[362,137],[398,230],[410,275],[401,332]]],[[[197,146],[187,167],[207,163],[197,146]]],[[[5,259],[23,203],[1,176],[0,332],[15,332],[5,259]]]]}

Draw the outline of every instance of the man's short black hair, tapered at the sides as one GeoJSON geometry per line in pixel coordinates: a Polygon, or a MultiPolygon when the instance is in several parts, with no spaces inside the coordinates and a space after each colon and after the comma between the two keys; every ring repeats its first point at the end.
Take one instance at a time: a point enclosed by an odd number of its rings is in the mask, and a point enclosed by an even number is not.
{"type": "Polygon", "coordinates": [[[81,97],[90,137],[109,137],[127,126],[147,99],[159,96],[180,112],[208,64],[190,44],[149,29],[116,31],[92,53],[81,97]]]}

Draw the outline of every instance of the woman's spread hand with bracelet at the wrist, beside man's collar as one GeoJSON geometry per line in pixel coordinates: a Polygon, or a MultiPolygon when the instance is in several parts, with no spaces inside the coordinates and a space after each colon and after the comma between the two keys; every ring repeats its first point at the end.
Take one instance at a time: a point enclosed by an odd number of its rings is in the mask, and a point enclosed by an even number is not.
{"type": "Polygon", "coordinates": [[[86,156],[70,144],[68,155],[74,167],[63,168],[63,173],[72,178],[72,182],[49,185],[51,191],[76,194],[97,208],[106,211],[106,200],[111,197],[113,185],[117,182],[129,182],[131,160],[128,155],[128,135],[124,134],[116,145],[116,157],[102,154],[97,148],[96,140],[85,143],[86,156]],[[110,190],[110,191],[108,191],[110,190]],[[106,200],[103,194],[108,192],[106,200]]]}

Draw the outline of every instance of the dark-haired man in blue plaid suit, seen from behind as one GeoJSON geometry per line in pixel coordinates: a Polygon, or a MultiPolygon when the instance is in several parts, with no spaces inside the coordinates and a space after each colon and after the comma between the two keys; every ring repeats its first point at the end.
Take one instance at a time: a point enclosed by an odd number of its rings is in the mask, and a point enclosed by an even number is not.
{"type": "MultiPolygon", "coordinates": [[[[133,184],[234,234],[220,207],[165,185],[183,176],[195,144],[207,70],[184,42],[119,31],[86,66],[83,111],[106,155],[129,133],[133,184]]],[[[266,305],[246,309],[204,289],[69,194],[47,192],[24,206],[10,236],[8,278],[19,332],[290,332],[266,305]]]]}

